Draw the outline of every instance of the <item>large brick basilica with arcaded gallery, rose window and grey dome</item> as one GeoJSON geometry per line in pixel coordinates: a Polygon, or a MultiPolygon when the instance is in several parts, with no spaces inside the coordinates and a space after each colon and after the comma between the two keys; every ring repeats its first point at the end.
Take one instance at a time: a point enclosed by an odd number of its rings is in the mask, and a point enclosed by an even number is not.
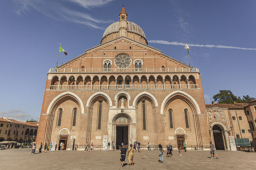
{"type": "Polygon", "coordinates": [[[209,148],[199,69],[148,46],[141,27],[127,18],[123,7],[100,45],[49,70],[36,144],[209,148]]]}

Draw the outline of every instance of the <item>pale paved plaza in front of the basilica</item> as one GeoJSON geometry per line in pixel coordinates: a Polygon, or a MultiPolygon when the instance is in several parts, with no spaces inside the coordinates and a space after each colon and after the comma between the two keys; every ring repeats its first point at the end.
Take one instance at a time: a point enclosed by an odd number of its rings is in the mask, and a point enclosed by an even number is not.
{"type": "MultiPolygon", "coordinates": [[[[38,153],[38,151],[36,151],[38,153]]],[[[210,151],[188,150],[158,162],[158,151],[134,153],[134,166],[121,167],[119,151],[54,151],[31,155],[31,149],[0,150],[1,170],[252,170],[256,167],[256,153],[217,151],[219,159],[211,159],[210,151]]],[[[166,154],[166,151],[164,151],[166,154]]],[[[126,157],[126,163],[128,159],[126,157]]]]}

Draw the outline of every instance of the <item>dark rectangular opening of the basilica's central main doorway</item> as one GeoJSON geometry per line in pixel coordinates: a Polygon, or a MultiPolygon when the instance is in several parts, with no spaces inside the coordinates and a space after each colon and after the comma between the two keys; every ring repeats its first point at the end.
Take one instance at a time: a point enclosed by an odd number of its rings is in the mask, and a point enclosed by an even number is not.
{"type": "Polygon", "coordinates": [[[124,143],[125,147],[128,149],[128,126],[119,125],[116,126],[116,138],[115,144],[116,149],[121,149],[122,142],[124,143]]]}

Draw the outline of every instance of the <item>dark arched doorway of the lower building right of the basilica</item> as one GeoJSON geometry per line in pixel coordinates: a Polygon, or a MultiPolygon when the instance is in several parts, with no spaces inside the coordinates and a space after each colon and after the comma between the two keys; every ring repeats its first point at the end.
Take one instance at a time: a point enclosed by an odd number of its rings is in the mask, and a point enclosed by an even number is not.
{"type": "Polygon", "coordinates": [[[224,136],[223,136],[223,127],[220,127],[218,125],[214,125],[212,127],[212,132],[213,132],[213,138],[214,138],[214,143],[215,143],[215,148],[216,149],[221,149],[224,150],[224,136]]]}

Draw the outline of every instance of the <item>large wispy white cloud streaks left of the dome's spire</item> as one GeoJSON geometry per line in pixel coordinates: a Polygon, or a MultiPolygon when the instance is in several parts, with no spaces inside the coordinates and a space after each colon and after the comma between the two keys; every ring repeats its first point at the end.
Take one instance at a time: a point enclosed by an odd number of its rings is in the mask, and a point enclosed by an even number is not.
{"type": "Polygon", "coordinates": [[[34,9],[50,18],[58,21],[70,21],[81,25],[90,26],[97,29],[104,29],[101,24],[111,23],[113,21],[103,21],[92,17],[88,13],[79,12],[65,6],[64,1],[73,5],[78,5],[83,8],[83,11],[88,8],[95,8],[106,5],[113,0],[13,0],[17,6],[18,15],[22,16],[28,13],[30,9],[34,9]],[[84,9],[85,8],[85,9],[84,9]]]}

